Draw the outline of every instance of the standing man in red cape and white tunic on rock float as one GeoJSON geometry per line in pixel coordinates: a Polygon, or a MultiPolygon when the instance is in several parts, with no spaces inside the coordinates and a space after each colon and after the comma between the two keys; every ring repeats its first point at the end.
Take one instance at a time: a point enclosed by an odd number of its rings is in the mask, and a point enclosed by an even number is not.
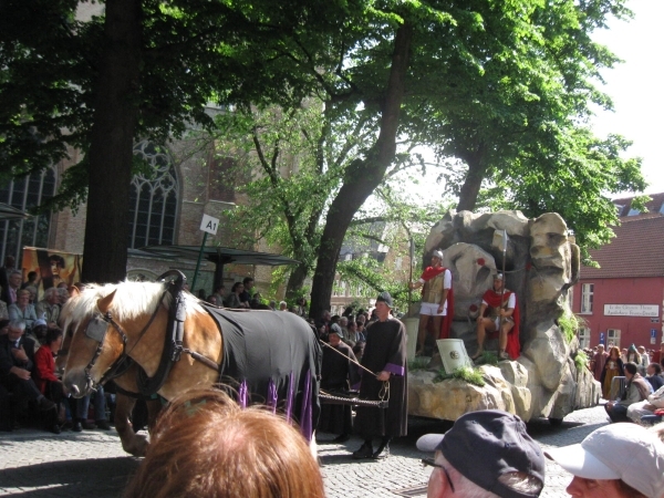
{"type": "Polygon", "coordinates": [[[449,338],[449,328],[454,319],[454,292],[452,291],[452,272],[443,266],[443,251],[435,250],[432,266],[409,283],[411,289],[422,287],[422,308],[419,309],[419,328],[417,330],[416,355],[424,353],[426,329],[429,318],[434,320],[436,339],[449,338]]]}

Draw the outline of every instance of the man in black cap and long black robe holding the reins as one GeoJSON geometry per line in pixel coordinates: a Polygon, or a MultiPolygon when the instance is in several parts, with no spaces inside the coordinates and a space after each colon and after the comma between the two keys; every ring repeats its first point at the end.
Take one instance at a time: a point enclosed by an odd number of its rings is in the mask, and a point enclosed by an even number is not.
{"type": "Polygon", "coordinates": [[[378,409],[357,407],[355,430],[364,438],[364,444],[353,453],[353,458],[384,458],[390,455],[390,440],[405,436],[407,432],[408,397],[406,392],[406,329],[402,322],[390,315],[392,297],[382,292],[376,299],[378,320],[366,329],[366,345],[362,356],[362,366],[375,375],[362,370],[362,400],[380,401],[381,393],[390,397],[385,409],[384,427],[378,409]],[[387,383],[388,391],[384,385],[387,383]],[[387,394],[388,393],[388,394],[387,394]],[[381,438],[374,452],[372,439],[381,438]]]}

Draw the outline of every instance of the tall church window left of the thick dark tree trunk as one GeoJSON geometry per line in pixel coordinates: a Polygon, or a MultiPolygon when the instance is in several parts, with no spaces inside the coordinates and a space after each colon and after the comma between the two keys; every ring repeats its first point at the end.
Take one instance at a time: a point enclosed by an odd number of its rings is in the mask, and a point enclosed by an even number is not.
{"type": "MultiPolygon", "coordinates": [[[[46,168],[41,174],[13,179],[0,187],[0,203],[21,210],[39,206],[55,194],[55,172],[46,168]]],[[[49,247],[51,214],[28,219],[0,221],[0,261],[13,256],[17,267],[23,256],[23,246],[49,247]]]]}

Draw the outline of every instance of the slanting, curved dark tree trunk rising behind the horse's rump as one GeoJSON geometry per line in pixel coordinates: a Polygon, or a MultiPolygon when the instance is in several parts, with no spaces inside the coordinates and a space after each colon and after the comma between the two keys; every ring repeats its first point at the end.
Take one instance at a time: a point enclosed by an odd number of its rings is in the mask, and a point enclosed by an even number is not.
{"type": "Polygon", "coordinates": [[[313,276],[310,318],[319,319],[329,309],[339,251],[346,230],[357,209],[381,184],[387,167],[394,160],[412,38],[413,28],[407,23],[396,31],[378,138],[365,159],[356,159],[349,166],[344,183],[330,206],[313,276]],[[357,178],[362,178],[362,181],[357,181],[357,178]]]}

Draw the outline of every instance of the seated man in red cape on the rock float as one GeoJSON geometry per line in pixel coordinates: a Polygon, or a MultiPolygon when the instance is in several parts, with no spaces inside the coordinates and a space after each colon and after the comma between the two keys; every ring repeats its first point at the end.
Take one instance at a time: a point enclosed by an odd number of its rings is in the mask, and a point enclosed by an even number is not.
{"type": "Polygon", "coordinates": [[[505,284],[502,273],[494,277],[494,288],[485,292],[481,298],[479,317],[477,317],[477,352],[473,360],[484,353],[484,342],[487,332],[500,330],[498,343],[500,360],[516,360],[521,353],[519,343],[519,304],[517,294],[502,289],[505,284]],[[502,302],[500,300],[502,299],[502,302]]]}

